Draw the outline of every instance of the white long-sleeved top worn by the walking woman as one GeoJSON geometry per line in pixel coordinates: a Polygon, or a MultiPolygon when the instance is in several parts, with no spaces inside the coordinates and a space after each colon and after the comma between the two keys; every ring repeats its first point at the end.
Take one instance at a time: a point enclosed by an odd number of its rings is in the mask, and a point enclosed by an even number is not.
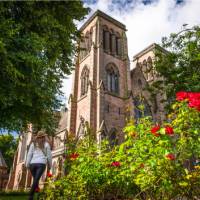
{"type": "Polygon", "coordinates": [[[32,143],[28,150],[26,167],[29,167],[29,165],[33,163],[47,164],[47,162],[49,168],[51,169],[52,154],[49,143],[45,142],[43,150],[41,150],[39,147],[34,145],[34,143],[32,143]]]}

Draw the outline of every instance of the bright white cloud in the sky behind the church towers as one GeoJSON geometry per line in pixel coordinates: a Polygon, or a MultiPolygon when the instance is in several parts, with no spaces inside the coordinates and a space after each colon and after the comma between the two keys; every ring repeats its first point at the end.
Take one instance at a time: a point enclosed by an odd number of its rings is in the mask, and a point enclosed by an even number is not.
{"type": "MultiPolygon", "coordinates": [[[[85,6],[92,9],[89,16],[99,9],[126,25],[130,60],[134,54],[150,44],[161,43],[163,36],[180,31],[183,24],[187,23],[188,27],[200,25],[200,0],[185,0],[178,5],[175,0],[157,0],[148,5],[138,0],[124,10],[113,5],[112,0],[99,0],[96,4],[85,6]]],[[[67,97],[71,92],[70,84],[71,80],[64,83],[67,97]]]]}

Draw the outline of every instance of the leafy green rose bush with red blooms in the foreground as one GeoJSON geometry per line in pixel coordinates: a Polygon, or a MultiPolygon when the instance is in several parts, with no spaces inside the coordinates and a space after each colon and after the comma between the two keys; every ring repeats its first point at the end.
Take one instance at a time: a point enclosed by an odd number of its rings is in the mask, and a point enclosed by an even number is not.
{"type": "Polygon", "coordinates": [[[113,148],[90,134],[76,148],[67,144],[67,175],[50,180],[41,199],[200,198],[199,101],[199,93],[177,93],[165,123],[130,121],[113,148]]]}

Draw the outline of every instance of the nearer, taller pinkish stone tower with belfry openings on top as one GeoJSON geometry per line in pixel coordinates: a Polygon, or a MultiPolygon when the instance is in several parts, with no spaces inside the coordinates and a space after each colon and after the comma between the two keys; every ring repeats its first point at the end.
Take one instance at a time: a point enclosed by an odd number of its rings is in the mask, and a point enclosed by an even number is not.
{"type": "Polygon", "coordinates": [[[69,131],[120,139],[131,104],[126,27],[97,10],[80,28],[80,54],[69,98],[69,131]]]}

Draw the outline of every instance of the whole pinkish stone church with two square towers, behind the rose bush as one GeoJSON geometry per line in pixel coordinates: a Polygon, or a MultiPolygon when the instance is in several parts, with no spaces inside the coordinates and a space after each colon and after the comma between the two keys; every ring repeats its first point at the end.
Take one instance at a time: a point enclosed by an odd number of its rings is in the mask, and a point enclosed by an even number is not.
{"type": "MultiPolygon", "coordinates": [[[[152,97],[145,87],[158,78],[153,67],[155,50],[165,50],[152,44],[133,56],[130,62],[126,26],[99,10],[80,31],[83,37],[68,108],[61,111],[59,127],[51,139],[54,175],[63,173],[62,155],[67,134],[83,137],[86,124],[96,133],[99,142],[107,137],[120,143],[126,119],[141,117],[138,109],[141,103],[145,105],[145,113],[154,120],[164,118],[164,107],[160,103],[163,96],[152,97]]],[[[31,185],[30,172],[24,165],[31,136],[30,125],[28,132],[20,135],[7,189],[26,189],[31,185]]]]}

